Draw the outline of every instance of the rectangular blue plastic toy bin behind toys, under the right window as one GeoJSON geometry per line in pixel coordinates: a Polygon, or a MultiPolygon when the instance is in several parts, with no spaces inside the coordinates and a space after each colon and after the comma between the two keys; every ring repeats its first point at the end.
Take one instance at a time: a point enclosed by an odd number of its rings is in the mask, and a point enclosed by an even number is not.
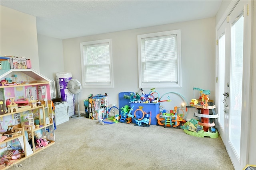
{"type": "MultiPolygon", "coordinates": [[[[151,111],[151,123],[150,125],[156,125],[157,119],[156,115],[159,113],[159,103],[130,103],[130,107],[133,107],[133,110],[131,112],[132,115],[134,115],[134,112],[136,109],[139,109],[140,107],[143,107],[142,110],[146,113],[150,113],[151,111]]],[[[142,117],[141,111],[136,111],[136,117],[142,117]]],[[[144,117],[146,118],[146,117],[144,117]]],[[[136,123],[134,119],[132,119],[132,123],[136,123]]]]}

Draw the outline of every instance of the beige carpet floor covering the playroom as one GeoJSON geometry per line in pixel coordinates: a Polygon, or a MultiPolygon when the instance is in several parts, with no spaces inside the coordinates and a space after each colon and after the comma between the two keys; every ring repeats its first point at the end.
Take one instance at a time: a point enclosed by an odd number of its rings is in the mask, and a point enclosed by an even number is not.
{"type": "Polygon", "coordinates": [[[57,126],[56,143],[10,170],[233,170],[220,137],[156,125],[100,125],[88,118],[57,126]]]}

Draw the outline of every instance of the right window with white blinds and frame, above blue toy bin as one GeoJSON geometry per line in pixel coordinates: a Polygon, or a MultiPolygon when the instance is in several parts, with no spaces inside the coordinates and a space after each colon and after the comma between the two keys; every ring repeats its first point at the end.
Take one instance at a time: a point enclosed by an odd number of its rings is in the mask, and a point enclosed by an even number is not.
{"type": "Polygon", "coordinates": [[[180,30],[138,35],[140,88],[181,88],[180,30]]]}

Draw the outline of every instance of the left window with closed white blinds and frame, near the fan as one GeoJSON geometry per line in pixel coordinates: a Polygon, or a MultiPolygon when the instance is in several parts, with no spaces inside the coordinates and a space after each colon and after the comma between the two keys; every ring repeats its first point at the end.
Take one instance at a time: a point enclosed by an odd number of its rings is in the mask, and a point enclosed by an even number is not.
{"type": "Polygon", "coordinates": [[[111,39],[80,43],[84,88],[113,88],[111,39]]]}

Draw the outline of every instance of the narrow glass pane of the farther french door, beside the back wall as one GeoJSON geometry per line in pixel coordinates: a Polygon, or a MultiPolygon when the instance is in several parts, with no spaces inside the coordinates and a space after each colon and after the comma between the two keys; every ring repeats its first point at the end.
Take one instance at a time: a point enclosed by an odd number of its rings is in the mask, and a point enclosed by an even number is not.
{"type": "Polygon", "coordinates": [[[224,100],[224,84],[225,84],[225,34],[219,39],[219,108],[218,108],[218,121],[219,125],[224,128],[224,105],[221,103],[224,100]]]}

